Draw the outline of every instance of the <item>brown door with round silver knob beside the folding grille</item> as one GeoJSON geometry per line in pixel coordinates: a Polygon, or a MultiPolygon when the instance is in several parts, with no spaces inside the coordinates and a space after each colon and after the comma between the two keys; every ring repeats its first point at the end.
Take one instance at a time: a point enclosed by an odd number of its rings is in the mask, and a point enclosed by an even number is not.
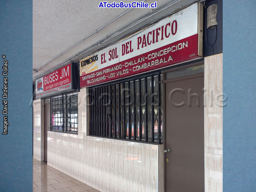
{"type": "Polygon", "coordinates": [[[204,76],[165,83],[166,192],[204,191],[204,76]]]}

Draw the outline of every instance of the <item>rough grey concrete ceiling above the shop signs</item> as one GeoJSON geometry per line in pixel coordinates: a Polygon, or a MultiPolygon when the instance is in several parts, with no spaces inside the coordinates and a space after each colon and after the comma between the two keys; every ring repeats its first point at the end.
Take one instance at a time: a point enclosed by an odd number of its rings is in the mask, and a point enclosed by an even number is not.
{"type": "MultiPolygon", "coordinates": [[[[130,0],[122,0],[131,3],[130,0]]],[[[153,14],[153,16],[124,33],[98,46],[97,48],[85,52],[74,61],[85,57],[101,47],[119,40],[123,36],[147,25],[167,14],[174,12],[196,0],[180,0],[166,10],[153,14]]],[[[113,1],[109,1],[112,3],[113,1]]],[[[116,1],[117,2],[117,1],[116,1]]],[[[153,3],[155,0],[146,0],[153,3]]],[[[157,7],[170,2],[170,0],[157,1],[157,7]]],[[[115,19],[129,8],[98,8],[100,0],[33,0],[33,69],[38,69],[52,58],[59,55],[64,50],[76,44],[86,36],[92,34],[100,27],[115,19]]],[[[33,79],[44,75],[45,71],[63,63],[68,58],[84,51],[86,48],[102,40],[106,36],[114,33],[120,28],[128,25],[142,15],[151,12],[151,8],[132,9],[122,17],[118,18],[105,28],[93,34],[80,44],[74,46],[61,56],[49,62],[38,72],[33,72],[33,79]]]]}

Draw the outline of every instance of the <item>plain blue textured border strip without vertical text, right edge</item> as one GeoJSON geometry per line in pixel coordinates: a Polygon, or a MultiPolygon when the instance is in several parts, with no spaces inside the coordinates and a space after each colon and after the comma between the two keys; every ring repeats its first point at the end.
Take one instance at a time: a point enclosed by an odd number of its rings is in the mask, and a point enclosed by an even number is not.
{"type": "Polygon", "coordinates": [[[223,191],[256,191],[256,1],[223,1],[223,191]]]}

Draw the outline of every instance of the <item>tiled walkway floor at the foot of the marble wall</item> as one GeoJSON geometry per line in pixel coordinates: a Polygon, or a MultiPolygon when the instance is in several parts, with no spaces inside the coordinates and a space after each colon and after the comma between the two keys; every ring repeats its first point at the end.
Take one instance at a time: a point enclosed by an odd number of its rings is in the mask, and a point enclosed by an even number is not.
{"type": "Polygon", "coordinates": [[[100,192],[33,158],[33,192],[100,192]]]}

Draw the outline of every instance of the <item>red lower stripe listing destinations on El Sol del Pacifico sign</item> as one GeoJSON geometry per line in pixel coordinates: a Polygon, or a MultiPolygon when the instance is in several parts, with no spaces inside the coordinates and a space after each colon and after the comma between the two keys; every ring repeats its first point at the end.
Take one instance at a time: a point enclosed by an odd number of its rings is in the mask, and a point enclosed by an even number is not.
{"type": "Polygon", "coordinates": [[[166,66],[177,64],[182,61],[195,59],[196,57],[199,57],[198,56],[198,34],[189,36],[182,40],[157,48],[153,51],[143,53],[133,58],[129,58],[127,60],[99,69],[97,71],[93,71],[89,74],[82,75],[80,76],[80,87],[100,84],[100,83],[112,81],[118,78],[140,74],[146,71],[155,70],[158,68],[163,68],[166,66]],[[188,47],[184,46],[183,44],[183,42],[186,44],[187,41],[188,41],[188,47]],[[176,47],[176,45],[178,44],[179,46],[176,47]],[[175,47],[172,47],[172,46],[175,46],[175,47]],[[167,53],[167,49],[169,50],[168,53],[167,53]],[[174,52],[170,51],[174,49],[175,49],[174,52]],[[157,56],[156,58],[152,59],[152,57],[156,55],[155,53],[161,54],[161,56],[157,56]],[[172,57],[172,60],[169,60],[170,56],[172,57]],[[141,58],[144,58],[144,61],[138,62],[139,59],[142,60],[141,58]],[[131,61],[133,65],[130,65],[130,64],[128,65],[127,63],[130,63],[131,61]],[[114,70],[112,72],[103,73],[104,70],[116,67],[117,65],[119,66],[121,65],[122,68],[118,70],[114,70]],[[97,73],[99,73],[98,76],[96,76],[97,73]],[[83,80],[83,77],[87,75],[92,75],[94,77],[83,80]],[[99,81],[92,81],[93,79],[102,78],[102,77],[105,77],[105,79],[101,79],[99,81]]]}

